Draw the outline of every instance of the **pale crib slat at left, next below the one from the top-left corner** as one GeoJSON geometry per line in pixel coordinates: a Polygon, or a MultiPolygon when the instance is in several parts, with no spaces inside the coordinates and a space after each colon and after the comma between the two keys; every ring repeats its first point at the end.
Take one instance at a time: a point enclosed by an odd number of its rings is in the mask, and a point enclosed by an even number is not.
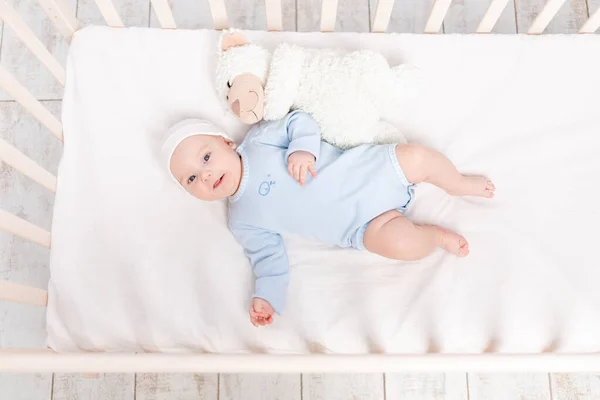
{"type": "Polygon", "coordinates": [[[38,119],[57,138],[62,140],[62,124],[8,71],[0,66],[0,88],[38,119]]]}

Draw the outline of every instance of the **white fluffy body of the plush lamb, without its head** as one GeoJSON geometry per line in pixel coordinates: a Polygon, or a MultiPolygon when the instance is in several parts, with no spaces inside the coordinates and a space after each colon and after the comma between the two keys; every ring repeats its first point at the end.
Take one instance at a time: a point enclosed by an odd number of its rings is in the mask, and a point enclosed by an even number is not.
{"type": "Polygon", "coordinates": [[[341,148],[362,143],[404,141],[381,119],[399,104],[412,68],[390,68],[379,53],[369,50],[305,49],[281,44],[271,57],[265,85],[266,120],[289,110],[311,114],[323,139],[341,148]]]}

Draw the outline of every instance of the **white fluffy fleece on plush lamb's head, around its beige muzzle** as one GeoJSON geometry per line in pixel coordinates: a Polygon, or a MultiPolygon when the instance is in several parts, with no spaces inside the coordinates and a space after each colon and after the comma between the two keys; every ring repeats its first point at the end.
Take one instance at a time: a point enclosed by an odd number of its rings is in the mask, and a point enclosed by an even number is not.
{"type": "Polygon", "coordinates": [[[267,81],[271,59],[271,55],[267,49],[252,43],[230,47],[226,51],[222,51],[221,42],[223,35],[231,32],[235,32],[235,30],[223,32],[219,39],[219,56],[217,59],[215,85],[219,99],[222,101],[227,101],[227,93],[229,92],[227,84],[231,83],[238,75],[255,75],[261,80],[264,86],[267,81]]]}

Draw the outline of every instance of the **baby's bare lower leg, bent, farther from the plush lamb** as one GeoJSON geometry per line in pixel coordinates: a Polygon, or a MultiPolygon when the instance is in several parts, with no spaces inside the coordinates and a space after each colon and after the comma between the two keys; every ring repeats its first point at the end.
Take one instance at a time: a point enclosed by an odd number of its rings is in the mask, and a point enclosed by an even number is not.
{"type": "Polygon", "coordinates": [[[415,225],[396,210],[369,223],[364,244],[372,253],[404,261],[420,260],[437,247],[459,257],[469,254],[464,237],[434,225],[415,225]]]}

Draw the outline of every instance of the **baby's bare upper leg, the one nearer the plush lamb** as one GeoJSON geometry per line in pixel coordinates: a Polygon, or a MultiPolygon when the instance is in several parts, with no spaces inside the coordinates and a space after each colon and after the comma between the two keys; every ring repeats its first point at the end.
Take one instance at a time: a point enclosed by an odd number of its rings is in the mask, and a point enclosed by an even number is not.
{"type": "Polygon", "coordinates": [[[461,175],[446,156],[417,144],[396,146],[396,157],[411,183],[429,182],[454,196],[494,197],[496,187],[486,177],[461,175]]]}

